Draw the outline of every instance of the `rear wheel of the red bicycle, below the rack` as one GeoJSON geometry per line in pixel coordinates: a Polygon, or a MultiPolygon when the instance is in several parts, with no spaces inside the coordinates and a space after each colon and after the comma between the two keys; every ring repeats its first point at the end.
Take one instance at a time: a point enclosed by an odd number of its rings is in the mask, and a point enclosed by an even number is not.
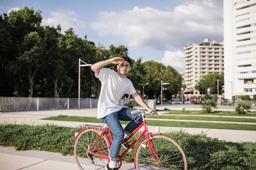
{"type": "Polygon", "coordinates": [[[104,170],[105,166],[108,164],[108,155],[110,153],[110,141],[107,135],[102,135],[99,139],[102,130],[97,128],[85,128],[76,138],[74,142],[74,157],[77,166],[80,170],[104,170]],[[95,144],[95,145],[94,145],[95,144]],[[94,148],[92,148],[94,146],[94,148]],[[101,148],[106,147],[106,148],[101,148]],[[103,154],[107,157],[104,159],[97,155],[92,155],[88,151],[90,149],[97,149],[93,152],[94,154],[103,154]]]}

